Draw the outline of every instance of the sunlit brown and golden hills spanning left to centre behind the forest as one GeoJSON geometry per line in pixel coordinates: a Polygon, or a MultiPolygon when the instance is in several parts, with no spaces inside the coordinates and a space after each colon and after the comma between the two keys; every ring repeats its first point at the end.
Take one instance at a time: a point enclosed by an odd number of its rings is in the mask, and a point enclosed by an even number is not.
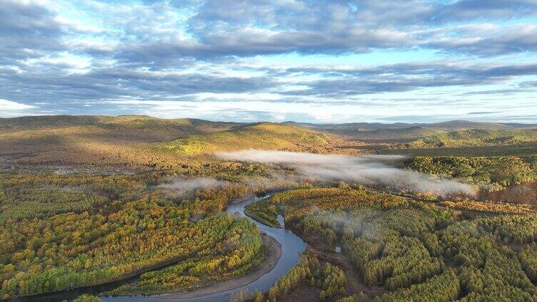
{"type": "Polygon", "coordinates": [[[166,168],[179,157],[249,148],[358,152],[360,142],[277,123],[147,116],[44,116],[0,120],[0,157],[24,164],[166,168]]]}

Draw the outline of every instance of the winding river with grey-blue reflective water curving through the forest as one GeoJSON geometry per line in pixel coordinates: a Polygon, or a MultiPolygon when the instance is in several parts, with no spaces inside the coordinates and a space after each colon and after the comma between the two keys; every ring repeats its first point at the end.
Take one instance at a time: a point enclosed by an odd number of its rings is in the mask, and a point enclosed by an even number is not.
{"type": "MultiPolygon", "coordinates": [[[[268,198],[270,195],[266,195],[262,198],[268,198]]],[[[261,199],[262,199],[261,198],[261,199]]],[[[261,232],[267,234],[268,236],[273,237],[273,239],[276,239],[276,241],[281,244],[281,256],[280,259],[278,259],[278,263],[271,271],[268,271],[268,273],[264,274],[260,278],[258,278],[256,281],[253,281],[251,283],[248,283],[244,286],[240,286],[238,288],[234,288],[228,291],[222,291],[219,293],[213,293],[206,296],[199,296],[196,298],[167,298],[163,297],[161,295],[153,295],[153,296],[106,296],[101,297],[103,301],[106,302],[127,302],[127,301],[134,301],[134,302],[172,302],[172,301],[181,301],[181,302],[202,302],[202,301],[214,301],[214,302],[227,302],[229,301],[229,298],[231,297],[231,294],[239,291],[241,289],[248,289],[249,291],[268,291],[268,288],[270,288],[273,283],[278,280],[280,276],[283,276],[287,273],[291,267],[293,267],[298,260],[300,259],[300,253],[303,252],[306,249],[306,242],[304,242],[299,236],[296,236],[292,231],[289,231],[288,229],[277,229],[274,227],[268,227],[264,224],[261,224],[259,222],[256,222],[254,219],[251,219],[250,217],[247,217],[244,214],[244,207],[246,207],[248,204],[251,204],[252,202],[258,202],[260,200],[259,197],[253,196],[249,197],[247,199],[241,200],[240,202],[236,202],[231,204],[226,212],[230,214],[239,213],[241,217],[246,217],[251,220],[251,222],[254,222],[254,224],[259,227],[261,232]]],[[[283,225],[283,217],[279,216],[278,221],[283,225]]],[[[112,282],[112,283],[106,283],[99,286],[89,286],[86,288],[75,288],[70,291],[61,291],[58,293],[48,293],[38,296],[29,296],[29,297],[21,297],[21,298],[15,298],[13,301],[17,302],[52,302],[52,301],[71,301],[77,296],[80,296],[83,293],[89,293],[93,295],[97,295],[104,291],[110,291],[113,288],[116,288],[117,286],[120,286],[122,284],[126,283],[135,283],[138,279],[138,276],[134,278],[129,278],[122,281],[112,282]]]]}

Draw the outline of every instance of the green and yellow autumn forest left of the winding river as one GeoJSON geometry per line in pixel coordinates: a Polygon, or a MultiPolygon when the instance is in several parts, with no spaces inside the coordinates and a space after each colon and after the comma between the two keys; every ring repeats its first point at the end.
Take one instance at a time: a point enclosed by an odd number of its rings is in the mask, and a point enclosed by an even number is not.
{"type": "Polygon", "coordinates": [[[1,175],[0,298],[106,283],[179,261],[154,273],[158,278],[143,275],[139,287],[196,288],[241,276],[262,261],[254,224],[221,212],[229,199],[248,194],[248,187],[188,197],[149,191],[148,183],[158,179],[1,175]],[[177,269],[196,274],[166,276],[179,274],[177,269]]]}

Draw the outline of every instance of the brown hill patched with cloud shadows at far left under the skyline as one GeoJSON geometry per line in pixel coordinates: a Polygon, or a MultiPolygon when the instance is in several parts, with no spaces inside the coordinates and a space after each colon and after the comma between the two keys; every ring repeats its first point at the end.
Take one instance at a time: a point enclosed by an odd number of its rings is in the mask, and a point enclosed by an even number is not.
{"type": "Polygon", "coordinates": [[[0,119],[2,164],[151,165],[149,144],[229,130],[238,123],[144,115],[36,116],[0,119]]]}

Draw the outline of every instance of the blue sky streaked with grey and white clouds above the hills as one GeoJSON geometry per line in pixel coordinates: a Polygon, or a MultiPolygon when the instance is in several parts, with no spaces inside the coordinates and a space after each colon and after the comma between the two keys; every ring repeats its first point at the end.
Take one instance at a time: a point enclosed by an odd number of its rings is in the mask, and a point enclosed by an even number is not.
{"type": "Polygon", "coordinates": [[[537,123],[537,0],[0,0],[0,117],[537,123]]]}

